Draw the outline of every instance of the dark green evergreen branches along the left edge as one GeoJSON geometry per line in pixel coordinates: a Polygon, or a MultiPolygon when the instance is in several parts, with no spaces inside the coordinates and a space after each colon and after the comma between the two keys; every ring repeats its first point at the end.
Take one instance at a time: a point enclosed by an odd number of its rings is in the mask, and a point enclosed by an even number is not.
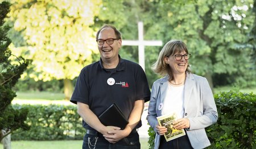
{"type": "Polygon", "coordinates": [[[0,3],[0,141],[14,130],[22,128],[28,130],[24,121],[27,119],[27,109],[15,110],[10,105],[16,96],[12,90],[20,75],[27,68],[29,61],[22,57],[14,57],[8,49],[11,40],[7,38],[9,27],[3,26],[4,19],[9,12],[10,5],[7,2],[0,3]],[[14,59],[15,60],[10,60],[14,59]]]}

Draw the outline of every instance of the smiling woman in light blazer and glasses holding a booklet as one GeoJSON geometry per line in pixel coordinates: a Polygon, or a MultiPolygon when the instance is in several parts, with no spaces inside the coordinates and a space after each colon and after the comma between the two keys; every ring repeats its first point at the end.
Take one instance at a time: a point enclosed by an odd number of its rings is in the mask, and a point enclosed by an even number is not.
{"type": "Polygon", "coordinates": [[[205,77],[189,71],[187,46],[179,40],[164,45],[154,72],[164,76],[152,86],[147,121],[156,132],[157,148],[205,148],[210,146],[205,127],[218,118],[212,90],[205,77]],[[184,136],[166,142],[165,126],[159,126],[156,117],[176,113],[174,129],[184,129],[184,136]]]}

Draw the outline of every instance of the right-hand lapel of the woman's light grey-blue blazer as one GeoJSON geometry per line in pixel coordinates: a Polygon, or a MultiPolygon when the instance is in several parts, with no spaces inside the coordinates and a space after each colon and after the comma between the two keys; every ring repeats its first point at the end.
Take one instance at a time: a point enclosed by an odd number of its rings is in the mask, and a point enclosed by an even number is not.
{"type": "Polygon", "coordinates": [[[192,74],[187,74],[184,88],[184,109],[186,109],[186,107],[188,106],[193,86],[195,86],[194,77],[192,74]]]}

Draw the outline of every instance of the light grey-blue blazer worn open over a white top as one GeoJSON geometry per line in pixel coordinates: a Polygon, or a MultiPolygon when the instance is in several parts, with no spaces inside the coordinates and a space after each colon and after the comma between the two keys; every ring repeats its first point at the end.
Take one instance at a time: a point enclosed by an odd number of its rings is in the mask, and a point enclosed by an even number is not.
{"type": "MultiPolygon", "coordinates": [[[[155,132],[155,126],[158,125],[156,117],[162,113],[162,108],[159,110],[159,104],[163,103],[167,86],[168,77],[156,80],[152,86],[147,121],[155,132]]],[[[190,123],[189,129],[186,129],[188,139],[193,148],[210,146],[204,128],[217,122],[218,113],[208,81],[205,77],[187,74],[184,91],[183,117],[188,118],[190,123]]],[[[159,143],[160,135],[156,133],[155,149],[158,149],[159,143]]]]}

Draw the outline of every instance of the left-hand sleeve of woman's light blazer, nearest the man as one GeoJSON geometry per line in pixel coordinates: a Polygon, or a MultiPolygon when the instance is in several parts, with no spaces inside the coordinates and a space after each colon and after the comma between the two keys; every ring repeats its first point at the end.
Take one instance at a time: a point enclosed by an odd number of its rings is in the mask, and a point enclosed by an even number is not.
{"type": "Polygon", "coordinates": [[[158,100],[156,97],[158,96],[158,90],[159,90],[159,84],[154,82],[152,85],[152,90],[151,90],[151,96],[150,96],[150,102],[148,104],[148,115],[147,115],[147,121],[149,125],[154,129],[156,132],[155,126],[158,125],[158,120],[156,119],[157,114],[156,114],[156,101],[158,100]]]}

